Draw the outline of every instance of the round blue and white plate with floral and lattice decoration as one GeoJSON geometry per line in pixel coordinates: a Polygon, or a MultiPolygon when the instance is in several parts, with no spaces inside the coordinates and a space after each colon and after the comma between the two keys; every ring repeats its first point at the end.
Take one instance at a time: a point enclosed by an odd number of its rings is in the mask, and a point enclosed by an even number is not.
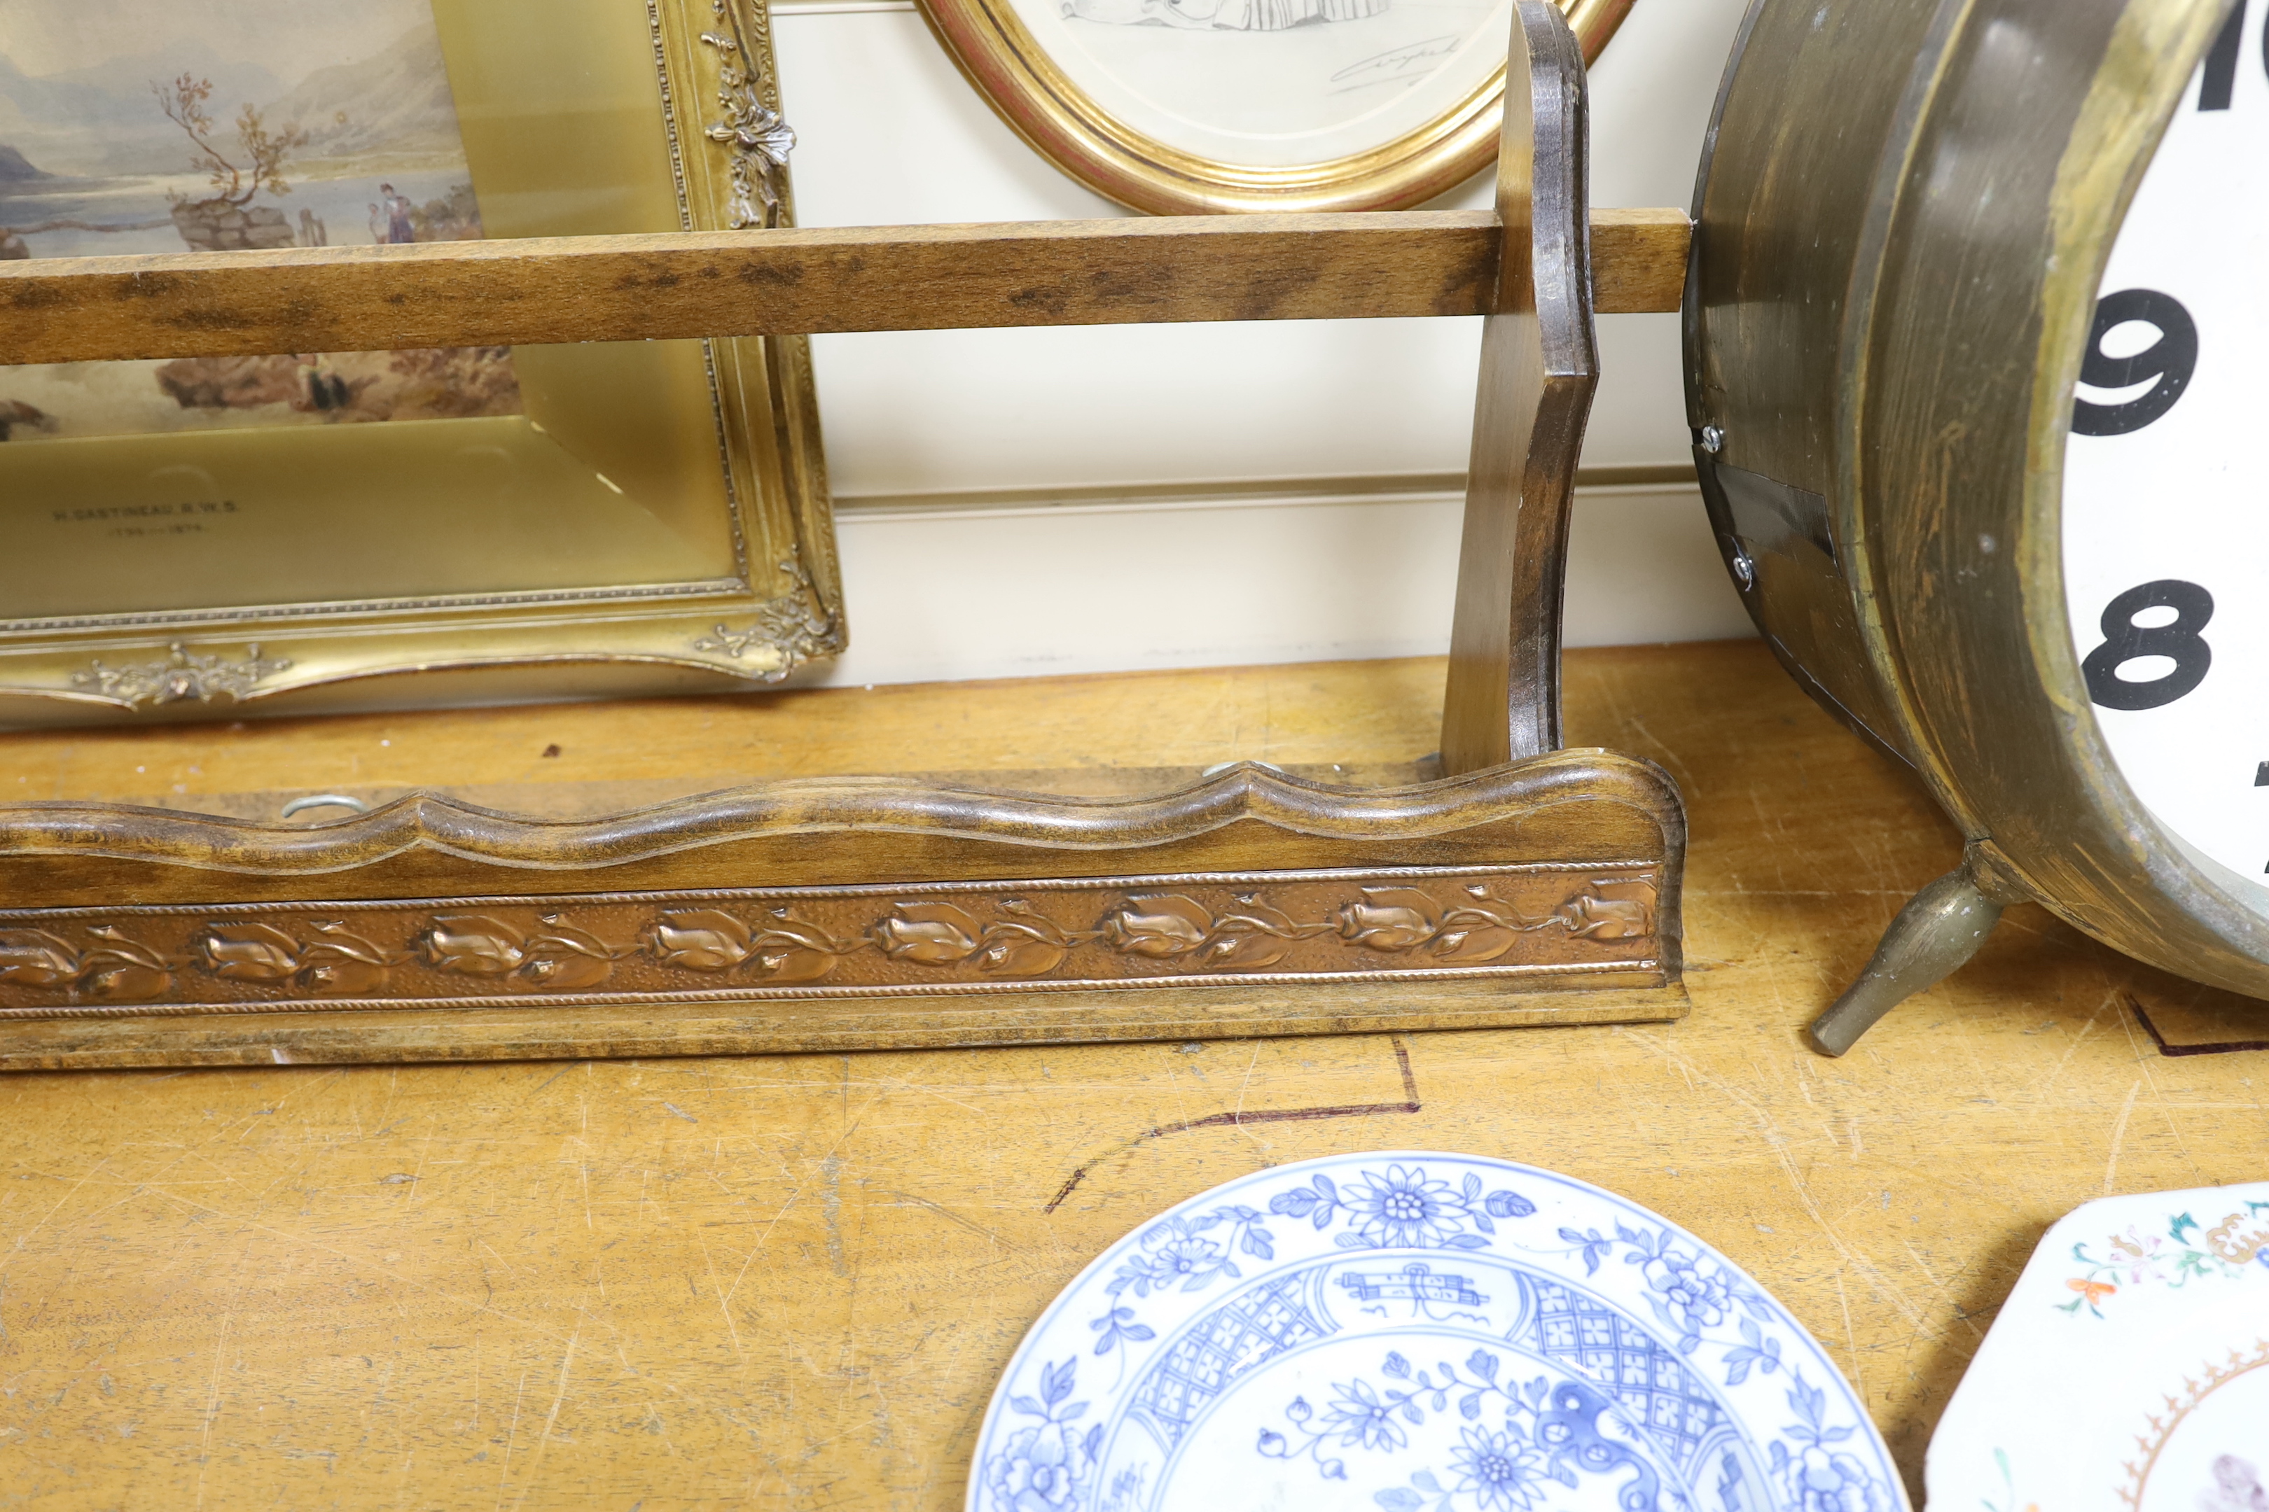
{"type": "Polygon", "coordinates": [[[1901,1512],[1749,1276],[1461,1154],[1241,1177],[1112,1245],[994,1392],[969,1512],[1901,1512]]]}

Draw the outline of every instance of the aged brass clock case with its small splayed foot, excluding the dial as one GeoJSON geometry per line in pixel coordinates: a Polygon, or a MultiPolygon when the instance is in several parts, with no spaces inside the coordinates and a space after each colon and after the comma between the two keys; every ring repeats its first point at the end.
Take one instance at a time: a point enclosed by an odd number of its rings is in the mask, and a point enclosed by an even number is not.
{"type": "Polygon", "coordinates": [[[1886,936],[1870,972],[1892,995],[1861,1029],[2017,898],[2269,997],[2260,889],[2185,852],[2122,780],[2063,580],[2097,288],[2228,11],[1756,0],[1727,68],[1686,283],[1718,542],[1783,666],[1969,836],[1951,893],[1926,889],[1886,936]]]}

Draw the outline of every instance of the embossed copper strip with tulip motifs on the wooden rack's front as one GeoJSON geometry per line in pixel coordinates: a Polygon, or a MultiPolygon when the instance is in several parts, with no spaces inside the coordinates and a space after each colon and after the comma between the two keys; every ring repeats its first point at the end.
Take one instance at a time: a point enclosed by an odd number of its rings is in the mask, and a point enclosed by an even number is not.
{"type": "MultiPolygon", "coordinates": [[[[1661,975],[1659,864],[0,914],[0,1018],[1661,975]]],[[[1538,982],[1552,986],[1552,982],[1538,982]]]]}

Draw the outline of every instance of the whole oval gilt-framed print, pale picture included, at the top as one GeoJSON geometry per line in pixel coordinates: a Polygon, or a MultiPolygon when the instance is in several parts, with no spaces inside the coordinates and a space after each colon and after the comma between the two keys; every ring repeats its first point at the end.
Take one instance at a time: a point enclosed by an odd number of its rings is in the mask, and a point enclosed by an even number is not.
{"type": "MultiPolygon", "coordinates": [[[[1631,0],[1559,0],[1600,57],[1631,0]]],[[[1041,156],[1155,215],[1420,204],[1498,150],[1511,0],[921,0],[1041,156]]]]}

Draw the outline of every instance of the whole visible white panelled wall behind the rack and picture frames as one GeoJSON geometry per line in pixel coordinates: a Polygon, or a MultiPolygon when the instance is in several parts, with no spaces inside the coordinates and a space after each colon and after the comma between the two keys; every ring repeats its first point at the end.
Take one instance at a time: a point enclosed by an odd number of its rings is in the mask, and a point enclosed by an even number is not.
{"type": "MultiPolygon", "coordinates": [[[[1688,202],[1740,9],[1638,0],[1593,70],[1597,204],[1688,202]]],[[[774,23],[803,224],[1125,213],[1001,125],[905,0],[774,0],[774,23]]],[[[1477,342],[1473,320],[815,338],[851,614],[817,680],[1443,651],[1477,342]]],[[[1584,465],[1684,462],[1677,317],[1602,317],[1600,349],[1584,465]]],[[[1690,487],[1579,494],[1572,644],[1747,632],[1690,487]]]]}

